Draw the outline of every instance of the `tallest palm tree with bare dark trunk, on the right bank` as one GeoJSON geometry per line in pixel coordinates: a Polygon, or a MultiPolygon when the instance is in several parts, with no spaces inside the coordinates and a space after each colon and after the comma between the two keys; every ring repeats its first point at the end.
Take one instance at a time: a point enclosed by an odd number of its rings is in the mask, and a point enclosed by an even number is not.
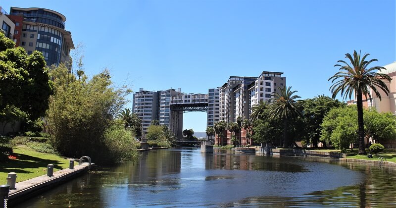
{"type": "Polygon", "coordinates": [[[365,60],[369,53],[365,53],[363,57],[360,56],[356,51],[353,51],[353,57],[349,53],[345,54],[346,58],[349,59],[349,65],[344,60],[337,61],[338,63],[334,66],[339,66],[340,71],[330,77],[328,81],[331,80],[333,85],[330,87],[333,93],[333,99],[336,98],[338,93],[344,96],[343,99],[349,97],[351,99],[352,94],[356,97],[357,104],[357,122],[358,122],[358,135],[359,135],[359,155],[365,155],[364,150],[364,122],[363,122],[363,95],[370,98],[370,89],[375,93],[375,95],[381,100],[381,94],[378,90],[382,90],[386,95],[389,94],[389,89],[384,83],[384,80],[391,82],[391,77],[386,74],[378,73],[382,69],[382,66],[374,66],[367,68],[367,66],[377,59],[371,59],[369,61],[365,60]],[[377,71],[378,70],[378,71],[377,71]]]}

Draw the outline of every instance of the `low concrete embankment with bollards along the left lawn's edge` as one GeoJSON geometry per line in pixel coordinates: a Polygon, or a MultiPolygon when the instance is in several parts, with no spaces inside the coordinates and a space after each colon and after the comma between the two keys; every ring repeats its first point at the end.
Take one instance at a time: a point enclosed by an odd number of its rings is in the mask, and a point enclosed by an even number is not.
{"type": "MultiPolygon", "coordinates": [[[[95,163],[91,163],[91,167],[94,165],[95,163]]],[[[84,162],[81,165],[74,166],[74,169],[66,168],[53,172],[53,176],[42,175],[18,182],[15,184],[15,189],[10,190],[8,193],[8,205],[18,204],[42,191],[66,182],[68,179],[74,178],[81,173],[87,172],[89,169],[89,163],[84,162]]]]}

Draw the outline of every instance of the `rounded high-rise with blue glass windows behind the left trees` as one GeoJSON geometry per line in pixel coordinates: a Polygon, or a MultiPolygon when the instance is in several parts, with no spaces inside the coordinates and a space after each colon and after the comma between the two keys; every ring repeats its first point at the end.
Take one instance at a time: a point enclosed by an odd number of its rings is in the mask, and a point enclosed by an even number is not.
{"type": "Polygon", "coordinates": [[[15,24],[13,40],[28,54],[43,53],[47,65],[58,65],[70,60],[74,49],[70,31],[65,30],[66,17],[46,8],[11,7],[10,20],[15,24]]]}

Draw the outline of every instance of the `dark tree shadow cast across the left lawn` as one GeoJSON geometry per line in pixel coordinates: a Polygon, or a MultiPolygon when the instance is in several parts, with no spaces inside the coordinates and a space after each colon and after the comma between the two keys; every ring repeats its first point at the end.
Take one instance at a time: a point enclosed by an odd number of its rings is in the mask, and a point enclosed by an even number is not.
{"type": "Polygon", "coordinates": [[[1,163],[0,172],[16,172],[16,173],[31,173],[23,170],[25,168],[47,168],[48,164],[53,164],[53,168],[62,169],[59,166],[61,161],[52,159],[43,159],[35,156],[28,156],[24,154],[14,154],[18,159],[8,159],[1,163]]]}

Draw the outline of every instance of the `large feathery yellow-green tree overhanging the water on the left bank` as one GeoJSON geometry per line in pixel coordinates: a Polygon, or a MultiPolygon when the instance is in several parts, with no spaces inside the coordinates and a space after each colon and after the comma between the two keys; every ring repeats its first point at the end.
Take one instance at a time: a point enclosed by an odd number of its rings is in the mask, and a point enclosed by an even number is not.
{"type": "Polygon", "coordinates": [[[107,70],[78,80],[60,64],[50,75],[55,92],[46,121],[52,145],[63,156],[88,155],[99,161],[109,151],[104,133],[131,91],[125,86],[114,89],[107,70]]]}

